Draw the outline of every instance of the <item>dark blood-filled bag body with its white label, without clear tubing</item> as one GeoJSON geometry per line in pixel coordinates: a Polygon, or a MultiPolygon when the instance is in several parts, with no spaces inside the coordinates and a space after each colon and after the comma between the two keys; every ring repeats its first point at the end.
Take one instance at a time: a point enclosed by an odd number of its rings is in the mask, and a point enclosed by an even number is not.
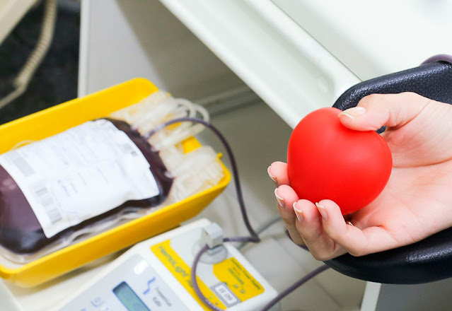
{"type": "Polygon", "coordinates": [[[129,124],[86,122],[0,155],[0,245],[30,254],[168,196],[172,177],[129,124]]]}

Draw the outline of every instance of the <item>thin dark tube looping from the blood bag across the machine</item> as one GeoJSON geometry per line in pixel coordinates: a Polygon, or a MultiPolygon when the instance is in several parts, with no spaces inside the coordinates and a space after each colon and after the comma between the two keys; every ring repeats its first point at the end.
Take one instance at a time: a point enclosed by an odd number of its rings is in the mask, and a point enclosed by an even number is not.
{"type": "MultiPolygon", "coordinates": [[[[260,237],[257,235],[257,233],[255,232],[253,227],[251,227],[250,221],[248,219],[248,214],[246,213],[245,201],[243,200],[243,192],[242,192],[242,188],[241,188],[241,183],[238,178],[238,169],[237,169],[236,158],[234,157],[234,155],[232,153],[231,146],[229,145],[228,141],[226,141],[223,134],[221,134],[219,129],[216,129],[216,127],[214,127],[214,125],[210,124],[207,121],[204,121],[203,119],[182,117],[182,118],[172,119],[170,121],[164,122],[164,123],[158,125],[158,127],[153,129],[152,131],[149,131],[147,134],[144,134],[143,136],[145,139],[149,139],[151,136],[153,136],[153,134],[156,134],[157,131],[161,131],[165,127],[168,127],[168,125],[170,125],[170,124],[175,124],[175,123],[180,123],[180,122],[194,122],[194,123],[203,124],[205,127],[210,129],[211,131],[213,131],[216,134],[216,136],[218,136],[221,143],[223,143],[224,148],[226,148],[226,152],[228,153],[229,160],[231,161],[233,178],[234,178],[234,182],[236,184],[236,193],[237,193],[238,204],[240,206],[241,213],[243,216],[243,222],[245,223],[245,226],[248,229],[248,232],[250,233],[250,237],[225,237],[223,239],[223,242],[260,242],[260,237]]],[[[214,311],[224,311],[223,309],[220,309],[219,307],[217,307],[216,305],[211,303],[211,301],[204,296],[202,291],[199,289],[199,286],[197,283],[197,278],[196,278],[197,265],[198,265],[199,259],[201,258],[202,254],[204,254],[204,252],[207,252],[207,250],[209,250],[209,246],[204,245],[201,248],[201,250],[199,250],[199,252],[196,254],[195,259],[193,259],[192,273],[191,273],[192,285],[193,285],[193,288],[195,289],[195,293],[197,294],[198,298],[200,300],[202,300],[202,302],[205,305],[207,305],[207,307],[209,307],[211,310],[214,310],[214,311]]],[[[321,272],[325,271],[328,268],[329,267],[326,264],[324,264],[324,265],[318,267],[317,269],[311,271],[309,274],[306,274],[306,276],[303,276],[303,278],[301,278],[299,281],[296,281],[294,284],[289,286],[289,288],[286,288],[284,291],[279,293],[275,298],[273,298],[270,301],[270,303],[267,303],[267,305],[265,305],[265,307],[261,311],[269,310],[270,307],[277,304],[279,302],[279,300],[282,300],[282,298],[286,297],[286,295],[289,295],[289,293],[294,291],[296,288],[303,285],[304,283],[309,281],[311,278],[320,274],[321,272]]]]}

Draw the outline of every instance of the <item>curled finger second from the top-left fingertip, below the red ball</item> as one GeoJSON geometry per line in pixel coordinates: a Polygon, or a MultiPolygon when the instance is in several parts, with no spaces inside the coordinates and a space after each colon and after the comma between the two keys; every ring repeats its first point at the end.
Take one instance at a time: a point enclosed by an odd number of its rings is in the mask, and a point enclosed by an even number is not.
{"type": "Polygon", "coordinates": [[[274,196],[277,198],[278,211],[281,214],[287,230],[289,231],[292,241],[294,241],[297,245],[304,245],[305,243],[303,238],[298,230],[296,230],[296,216],[294,209],[292,208],[294,202],[298,201],[299,196],[296,195],[294,189],[287,185],[282,185],[277,189],[274,189],[274,196]]]}

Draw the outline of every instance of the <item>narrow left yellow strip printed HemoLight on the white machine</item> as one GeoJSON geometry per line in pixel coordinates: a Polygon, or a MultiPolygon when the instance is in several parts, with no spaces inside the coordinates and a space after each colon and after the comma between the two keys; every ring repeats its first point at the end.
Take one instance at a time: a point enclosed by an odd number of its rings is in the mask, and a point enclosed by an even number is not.
{"type": "MultiPolygon", "coordinates": [[[[170,245],[170,240],[166,240],[165,242],[161,242],[159,244],[153,245],[151,247],[151,251],[157,256],[157,258],[166,266],[166,268],[178,279],[179,283],[184,286],[185,290],[187,290],[190,295],[201,305],[204,310],[209,311],[210,309],[202,303],[202,301],[198,298],[195,293],[195,288],[193,288],[191,273],[192,269],[188,266],[182,258],[179,257],[178,253],[176,253],[170,245]]],[[[221,309],[226,310],[226,306],[221,303],[221,300],[216,297],[216,295],[204,284],[204,282],[196,277],[199,289],[204,294],[206,298],[208,298],[211,303],[220,307],[221,309]]]]}

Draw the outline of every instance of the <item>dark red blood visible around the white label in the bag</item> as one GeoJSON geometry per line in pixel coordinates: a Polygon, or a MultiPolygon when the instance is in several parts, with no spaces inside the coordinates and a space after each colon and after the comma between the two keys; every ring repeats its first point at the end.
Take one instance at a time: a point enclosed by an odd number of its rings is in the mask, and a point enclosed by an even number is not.
{"type": "Polygon", "coordinates": [[[158,155],[158,151],[154,150],[146,139],[137,131],[134,131],[126,122],[114,119],[108,120],[132,139],[146,160],[151,164],[151,172],[156,178],[160,194],[150,199],[127,201],[115,209],[47,238],[18,184],[0,165],[0,245],[2,247],[18,254],[37,252],[37,250],[41,250],[43,247],[50,245],[50,243],[71,235],[76,230],[85,228],[87,225],[93,225],[109,216],[114,216],[129,207],[147,209],[158,206],[165,201],[173,184],[173,179],[166,174],[166,167],[158,155]]]}

